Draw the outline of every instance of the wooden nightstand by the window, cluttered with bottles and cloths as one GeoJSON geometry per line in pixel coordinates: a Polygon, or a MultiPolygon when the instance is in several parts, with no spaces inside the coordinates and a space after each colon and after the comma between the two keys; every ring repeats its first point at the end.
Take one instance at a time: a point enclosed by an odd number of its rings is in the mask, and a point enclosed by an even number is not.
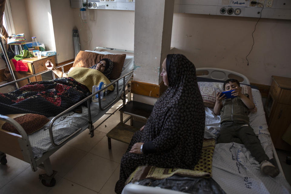
{"type": "MultiPolygon", "coordinates": [[[[25,58],[25,59],[20,59],[20,60],[27,62],[28,71],[27,72],[22,72],[22,71],[16,72],[15,66],[13,65],[13,62],[12,62],[12,60],[10,60],[10,64],[11,64],[11,67],[12,67],[12,70],[13,70],[13,73],[14,73],[16,79],[24,78],[26,76],[33,75],[35,73],[39,73],[39,72],[47,70],[45,67],[45,62],[47,60],[50,60],[53,64],[55,64],[55,55],[49,56],[49,57],[42,56],[42,59],[38,59],[37,57],[32,57],[32,58],[25,58]]],[[[29,80],[30,80],[30,82],[42,81],[42,76],[37,75],[35,77],[29,78],[29,80]]],[[[21,86],[28,84],[28,80],[25,79],[25,80],[19,81],[17,83],[18,83],[18,87],[20,88],[21,86]]]]}

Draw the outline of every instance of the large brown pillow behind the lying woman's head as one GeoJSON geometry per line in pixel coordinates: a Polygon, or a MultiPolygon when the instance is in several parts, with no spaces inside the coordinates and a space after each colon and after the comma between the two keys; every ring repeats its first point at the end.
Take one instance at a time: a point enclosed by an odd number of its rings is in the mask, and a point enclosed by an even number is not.
{"type": "Polygon", "coordinates": [[[76,59],[74,61],[73,67],[91,67],[95,64],[97,64],[101,59],[103,58],[108,58],[112,60],[113,62],[113,69],[110,75],[110,79],[118,79],[122,67],[123,67],[123,62],[125,59],[126,55],[103,55],[103,54],[98,54],[95,52],[88,52],[88,51],[80,51],[78,55],[76,56],[76,59]]]}

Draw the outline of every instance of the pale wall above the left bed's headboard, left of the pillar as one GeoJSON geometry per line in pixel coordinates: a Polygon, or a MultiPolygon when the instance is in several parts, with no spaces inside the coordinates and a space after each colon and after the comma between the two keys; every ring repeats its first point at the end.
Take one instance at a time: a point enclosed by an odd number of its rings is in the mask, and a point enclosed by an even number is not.
{"type": "Polygon", "coordinates": [[[88,9],[83,21],[79,9],[74,9],[74,21],[80,50],[94,50],[96,46],[134,50],[134,11],[88,9]]]}

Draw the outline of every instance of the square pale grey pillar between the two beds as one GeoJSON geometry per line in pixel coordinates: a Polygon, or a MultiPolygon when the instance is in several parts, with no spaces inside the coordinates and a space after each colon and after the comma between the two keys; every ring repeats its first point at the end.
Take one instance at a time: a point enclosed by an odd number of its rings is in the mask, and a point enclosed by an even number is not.
{"type": "MultiPolygon", "coordinates": [[[[133,80],[159,85],[162,62],[170,53],[174,0],[136,0],[133,80]]],[[[136,94],[135,101],[144,101],[136,94]]],[[[148,97],[152,98],[152,97],[148,97]]],[[[147,99],[153,104],[154,99],[147,99]]]]}

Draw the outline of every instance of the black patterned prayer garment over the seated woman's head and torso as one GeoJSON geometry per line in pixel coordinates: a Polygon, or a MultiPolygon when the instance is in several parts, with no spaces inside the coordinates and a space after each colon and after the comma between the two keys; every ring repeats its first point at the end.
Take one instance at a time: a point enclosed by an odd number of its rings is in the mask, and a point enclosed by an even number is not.
{"type": "Polygon", "coordinates": [[[169,87],[155,103],[141,142],[151,144],[151,157],[162,157],[165,166],[191,169],[201,155],[205,109],[194,64],[181,54],[168,58],[169,87]]]}

